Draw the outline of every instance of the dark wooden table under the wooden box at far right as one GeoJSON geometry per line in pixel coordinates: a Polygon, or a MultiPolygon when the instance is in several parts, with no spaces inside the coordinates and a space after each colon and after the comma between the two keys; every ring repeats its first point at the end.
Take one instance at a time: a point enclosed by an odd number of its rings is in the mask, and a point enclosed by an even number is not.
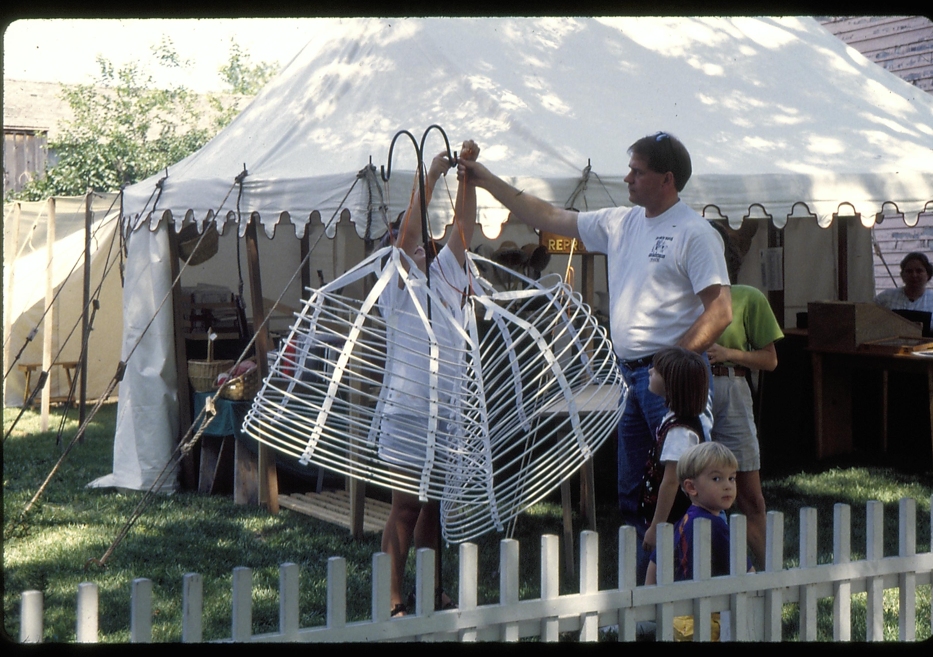
{"type": "MultiPolygon", "coordinates": [[[[933,427],[933,357],[879,355],[861,351],[810,349],[814,372],[814,422],[817,459],[852,452],[852,378],[857,370],[882,372],[882,450],[887,451],[887,387],[889,371],[926,374],[928,406],[918,409],[933,427]]],[[[933,444],[933,429],[930,440],[933,444]]]]}

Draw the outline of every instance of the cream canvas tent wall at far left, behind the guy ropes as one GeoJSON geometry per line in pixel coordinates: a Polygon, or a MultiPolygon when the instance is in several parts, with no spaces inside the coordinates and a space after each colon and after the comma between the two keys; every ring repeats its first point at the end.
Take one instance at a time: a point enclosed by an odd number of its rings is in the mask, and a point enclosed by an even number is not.
{"type": "MultiPolygon", "coordinates": [[[[90,399],[104,394],[119,361],[115,347],[120,342],[123,330],[123,290],[120,286],[118,265],[119,245],[116,230],[119,205],[114,203],[116,199],[117,194],[113,193],[94,194],[91,202],[92,296],[102,280],[104,282],[99,296],[100,309],[94,319],[88,346],[87,396],[90,399]],[[107,272],[106,277],[104,272],[107,272]]],[[[5,372],[12,364],[12,358],[17,356],[26,342],[29,332],[36,326],[39,326],[39,330],[23,350],[17,364],[42,363],[44,326],[40,324],[44,324],[42,316],[46,304],[48,218],[48,201],[4,205],[5,331],[8,327],[8,332],[4,334],[5,372]],[[16,223],[19,224],[18,228],[16,223]]],[[[58,296],[53,314],[51,345],[52,356],[58,355],[57,361],[77,361],[80,357],[84,228],[85,197],[57,197],[52,281],[53,293],[58,293],[58,296]]],[[[35,385],[38,375],[37,369],[33,372],[31,386],[35,385]]],[[[47,385],[50,386],[49,392],[52,397],[68,395],[68,382],[61,368],[50,370],[47,385]]],[[[4,404],[21,406],[24,386],[24,373],[14,367],[4,382],[4,404]]],[[[76,386],[76,399],[78,394],[76,386]]]]}

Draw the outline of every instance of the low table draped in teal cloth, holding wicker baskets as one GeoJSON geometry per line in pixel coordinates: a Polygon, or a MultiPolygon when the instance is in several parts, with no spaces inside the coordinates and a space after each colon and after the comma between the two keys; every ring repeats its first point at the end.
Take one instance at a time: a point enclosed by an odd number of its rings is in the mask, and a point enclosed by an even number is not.
{"type": "MultiPolygon", "coordinates": [[[[207,398],[214,393],[194,393],[194,417],[204,408],[207,398]]],[[[214,420],[204,428],[201,437],[201,468],[198,491],[214,493],[223,483],[224,476],[233,472],[233,501],[237,504],[258,504],[258,442],[244,434],[243,421],[252,406],[252,400],[232,401],[216,398],[214,420]]],[[[197,430],[200,423],[195,426],[197,430]]],[[[275,453],[277,468],[285,468],[302,477],[313,474],[301,466],[295,457],[275,453]]]]}

